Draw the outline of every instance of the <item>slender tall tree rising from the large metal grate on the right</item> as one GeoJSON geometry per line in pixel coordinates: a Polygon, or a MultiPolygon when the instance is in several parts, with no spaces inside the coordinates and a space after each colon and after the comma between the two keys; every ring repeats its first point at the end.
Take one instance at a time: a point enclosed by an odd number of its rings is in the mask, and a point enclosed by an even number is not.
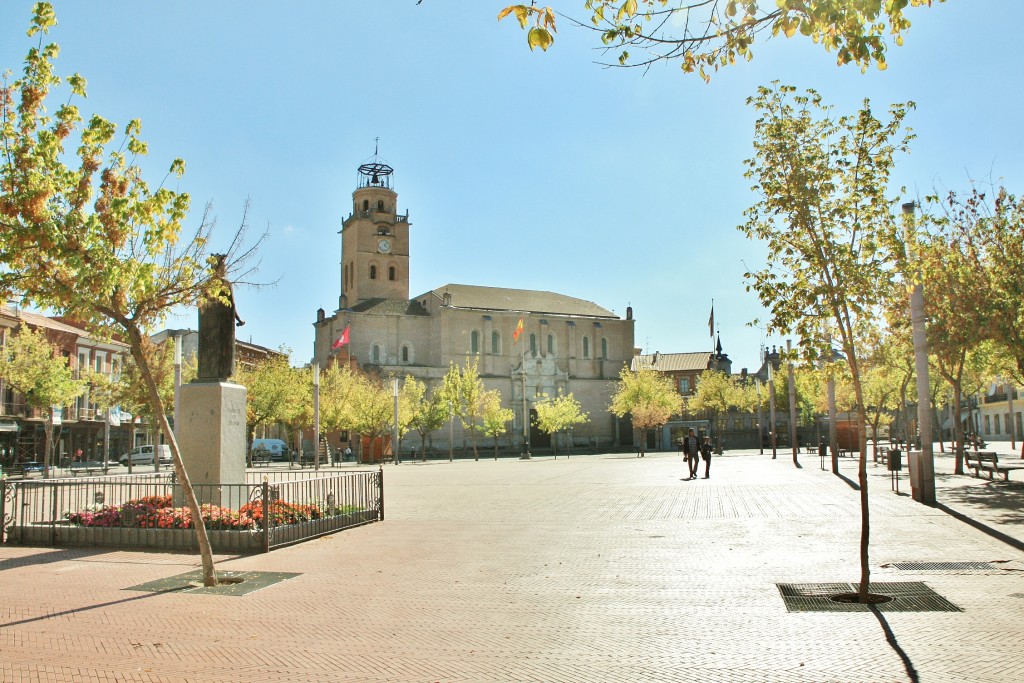
{"type": "Polygon", "coordinates": [[[740,230],[768,249],[767,266],[746,273],[748,289],[770,311],[769,332],[797,333],[808,359],[828,352],[821,348],[822,324],[837,335],[860,427],[859,600],[866,602],[870,525],[858,331],[878,321],[892,298],[894,257],[884,247],[895,242],[896,221],[886,191],[896,152],[908,150],[911,136],[901,126],[912,103],[891,106],[888,121],[876,118],[867,100],[856,114],[837,118],[815,91],[795,92],[776,83],[748,100],[758,120],[746,177],[760,199],[740,230]]]}

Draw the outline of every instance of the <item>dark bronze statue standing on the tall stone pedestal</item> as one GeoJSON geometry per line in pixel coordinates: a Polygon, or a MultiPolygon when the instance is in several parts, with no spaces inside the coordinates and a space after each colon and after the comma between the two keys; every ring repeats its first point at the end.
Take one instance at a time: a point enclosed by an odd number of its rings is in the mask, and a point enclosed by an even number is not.
{"type": "Polygon", "coordinates": [[[213,279],[221,283],[222,290],[221,297],[209,297],[199,308],[198,382],[223,382],[234,374],[234,328],[245,325],[234,307],[226,254],[214,254],[213,258],[213,279]]]}

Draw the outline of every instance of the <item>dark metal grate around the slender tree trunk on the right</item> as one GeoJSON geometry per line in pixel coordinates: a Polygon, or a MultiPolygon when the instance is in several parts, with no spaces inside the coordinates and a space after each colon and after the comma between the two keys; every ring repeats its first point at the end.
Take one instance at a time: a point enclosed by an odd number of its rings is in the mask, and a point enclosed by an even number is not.
{"type": "MultiPolygon", "coordinates": [[[[856,584],[776,584],[779,595],[791,612],[866,612],[872,606],[855,602],[836,602],[830,596],[856,593],[856,584]]],[[[921,582],[868,584],[870,593],[893,599],[873,605],[880,612],[959,612],[964,611],[921,582]]]]}

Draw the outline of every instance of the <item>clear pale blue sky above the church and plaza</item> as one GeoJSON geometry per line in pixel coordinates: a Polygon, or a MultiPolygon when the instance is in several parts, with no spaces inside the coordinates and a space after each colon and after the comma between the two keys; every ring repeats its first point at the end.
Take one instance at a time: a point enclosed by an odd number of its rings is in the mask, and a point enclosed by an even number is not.
{"type": "MultiPolygon", "coordinates": [[[[59,73],[88,80],[85,112],[142,120],[153,181],[185,160],[180,188],[195,220],[212,204],[216,240],[251,203],[252,233],[269,231],[257,279],[278,284],[237,291],[240,338],[287,345],[295,364],[312,354],[316,309],[338,306],[340,221],[376,138],[413,223],[411,295],[461,283],[632,305],[636,345],[663,353],[711,347],[714,299],[736,371],[781,343],[748,326],[764,311],[742,273],[764,249],[736,229],[755,201],[742,162],[758,85],[814,87],[843,113],[913,100],[895,186],[993,178],[1024,193],[1016,0],[909,10],[886,72],[772,40],[709,85],[674,63],[604,69],[595,36],[564,22],[531,53],[517,24],[497,23],[505,4],[58,1],[50,38],[59,73]]],[[[555,6],[580,15],[583,0],[555,6]]],[[[20,70],[31,8],[0,3],[0,69],[20,70]]],[[[168,326],[195,328],[195,312],[168,326]]]]}

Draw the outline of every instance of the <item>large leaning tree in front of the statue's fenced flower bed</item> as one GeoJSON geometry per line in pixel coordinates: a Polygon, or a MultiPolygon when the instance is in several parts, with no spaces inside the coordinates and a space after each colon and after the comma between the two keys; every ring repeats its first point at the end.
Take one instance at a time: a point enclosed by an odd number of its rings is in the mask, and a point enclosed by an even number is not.
{"type": "MultiPolygon", "coordinates": [[[[29,50],[23,75],[0,87],[0,295],[54,310],[97,338],[118,333],[127,341],[170,439],[177,484],[193,519],[201,520],[142,340],[172,309],[226,299],[207,252],[212,224],[204,216],[182,239],[188,195],[163,184],[151,188],[143,179],[138,161],[147,146],[137,120],[120,139],[117,126],[100,116],[83,123],[75,102],[85,97],[85,79],[57,76],[59,48],[42,44],[55,25],[50,3],[37,3],[29,36],[38,36],[39,45],[29,50]],[[67,91],[58,89],[62,84],[67,91]],[[48,106],[50,95],[60,103],[48,106]],[[77,146],[69,152],[67,144],[77,146]]],[[[183,172],[175,160],[168,177],[183,172]]],[[[232,274],[255,249],[239,254],[242,233],[227,254],[232,274]]],[[[215,586],[206,527],[196,523],[195,531],[203,582],[215,586]]]]}

